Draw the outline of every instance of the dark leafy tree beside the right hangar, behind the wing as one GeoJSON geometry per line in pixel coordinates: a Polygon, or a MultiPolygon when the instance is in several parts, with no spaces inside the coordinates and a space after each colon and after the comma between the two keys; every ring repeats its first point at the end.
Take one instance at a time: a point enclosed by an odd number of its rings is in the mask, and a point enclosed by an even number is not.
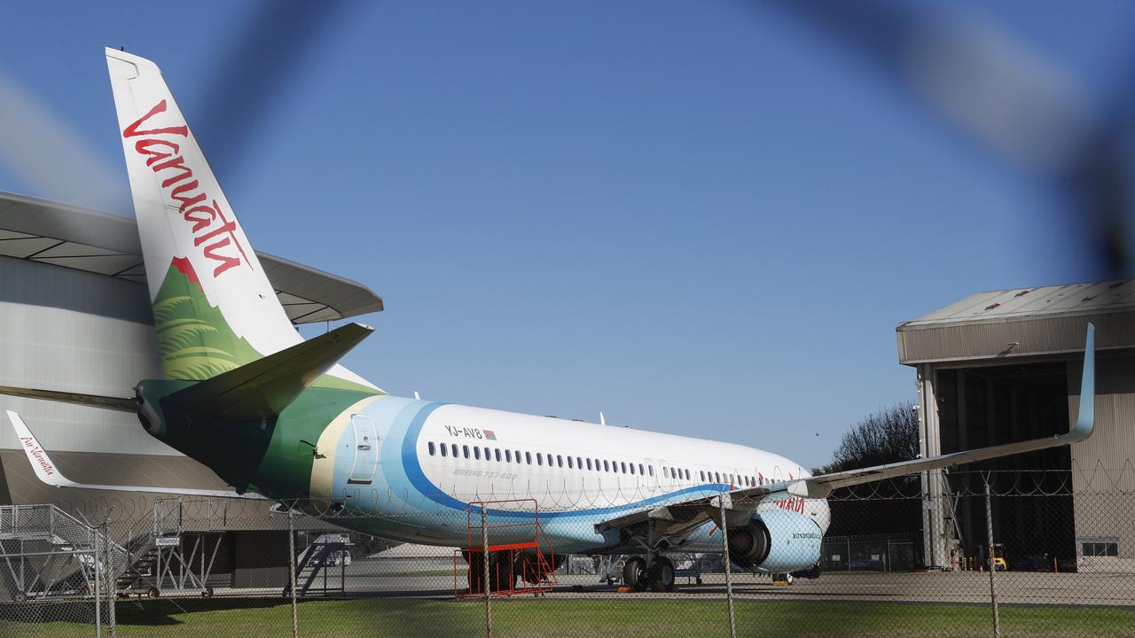
{"type": "Polygon", "coordinates": [[[852,426],[822,470],[841,472],[917,457],[918,413],[907,401],[880,409],[852,426]]]}

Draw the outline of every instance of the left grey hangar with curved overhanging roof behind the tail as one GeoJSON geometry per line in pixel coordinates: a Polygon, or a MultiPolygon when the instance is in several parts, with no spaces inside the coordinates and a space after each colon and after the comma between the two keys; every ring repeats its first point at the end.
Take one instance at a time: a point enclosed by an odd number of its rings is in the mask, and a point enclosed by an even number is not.
{"type": "MultiPolygon", "coordinates": [[[[257,253],[293,324],[382,310],[365,286],[257,253]]],[[[160,378],[133,218],[0,192],[0,385],[132,396],[160,378]]],[[[65,476],[79,482],[224,489],[209,469],[149,436],[131,414],[0,397],[33,426],[65,476]]],[[[56,503],[142,515],[152,495],[53,489],[36,480],[7,421],[0,427],[0,503],[56,503]]],[[[232,521],[230,521],[232,522],[232,521]]]]}

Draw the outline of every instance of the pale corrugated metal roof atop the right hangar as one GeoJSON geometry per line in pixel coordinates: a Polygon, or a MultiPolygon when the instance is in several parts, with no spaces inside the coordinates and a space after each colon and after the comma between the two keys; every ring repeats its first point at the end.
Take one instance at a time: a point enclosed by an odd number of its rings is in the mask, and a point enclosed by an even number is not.
{"type": "Polygon", "coordinates": [[[1098,314],[1135,309],[1135,279],[977,293],[900,326],[1039,314],[1098,314]]]}

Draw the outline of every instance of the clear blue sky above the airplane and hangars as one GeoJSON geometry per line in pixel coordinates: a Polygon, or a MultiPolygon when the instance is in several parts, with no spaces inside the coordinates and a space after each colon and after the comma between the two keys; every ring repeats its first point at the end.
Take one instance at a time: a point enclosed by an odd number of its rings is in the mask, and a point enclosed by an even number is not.
{"type": "MultiPolygon", "coordinates": [[[[915,397],[897,325],[1093,276],[1050,186],[773,3],[263,7],[5,6],[52,170],[103,173],[0,190],[132,215],[101,48],[153,59],[254,245],[384,296],[346,363],[394,394],[816,465],[915,397]]],[[[1117,90],[1128,5],[960,7],[1117,90]]]]}

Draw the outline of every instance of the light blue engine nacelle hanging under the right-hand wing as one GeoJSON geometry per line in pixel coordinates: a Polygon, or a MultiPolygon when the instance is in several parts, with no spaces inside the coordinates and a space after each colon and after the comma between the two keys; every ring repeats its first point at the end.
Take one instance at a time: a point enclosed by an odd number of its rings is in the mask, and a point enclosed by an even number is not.
{"type": "Polygon", "coordinates": [[[808,570],[819,562],[819,526],[810,517],[770,510],[729,530],[729,557],[742,569],[763,572],[808,570]]]}

